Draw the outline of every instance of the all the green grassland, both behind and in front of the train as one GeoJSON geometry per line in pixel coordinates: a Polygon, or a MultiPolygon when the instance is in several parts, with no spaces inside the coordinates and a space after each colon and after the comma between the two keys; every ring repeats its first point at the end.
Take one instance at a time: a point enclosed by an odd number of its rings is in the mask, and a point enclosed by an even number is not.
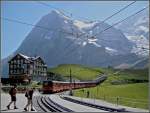
{"type": "Polygon", "coordinates": [[[95,79],[102,73],[108,75],[108,79],[100,86],[86,88],[84,89],[84,92],[80,89],[75,90],[74,94],[76,96],[86,97],[86,92],[89,90],[91,97],[95,96],[96,98],[105,99],[112,103],[116,103],[116,98],[121,97],[121,99],[119,99],[119,104],[145,109],[148,108],[148,83],[128,82],[131,80],[148,80],[147,69],[124,70],[117,73],[120,70],[89,68],[81,65],[59,65],[56,68],[49,69],[49,71],[66,76],[69,75],[70,68],[72,69],[72,75],[80,80],[95,79]],[[117,82],[120,85],[112,85],[114,82],[117,82]]]}

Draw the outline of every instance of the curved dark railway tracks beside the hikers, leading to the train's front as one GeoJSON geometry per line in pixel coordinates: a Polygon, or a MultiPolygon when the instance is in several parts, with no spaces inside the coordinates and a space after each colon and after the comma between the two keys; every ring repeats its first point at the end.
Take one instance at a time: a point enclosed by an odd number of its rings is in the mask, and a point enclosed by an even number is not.
{"type": "Polygon", "coordinates": [[[73,112],[55,102],[47,96],[36,96],[33,99],[34,107],[39,112],[73,112]]]}

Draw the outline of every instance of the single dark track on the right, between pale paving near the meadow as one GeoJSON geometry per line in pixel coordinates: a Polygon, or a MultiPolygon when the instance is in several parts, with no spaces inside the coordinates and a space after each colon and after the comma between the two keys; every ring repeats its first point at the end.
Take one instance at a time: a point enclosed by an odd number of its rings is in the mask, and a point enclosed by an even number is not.
{"type": "Polygon", "coordinates": [[[60,98],[62,98],[64,100],[67,100],[67,101],[70,101],[70,102],[74,102],[74,103],[77,103],[77,104],[89,106],[89,107],[92,107],[92,108],[96,108],[96,109],[100,109],[100,110],[104,110],[104,111],[108,111],[108,112],[129,112],[125,109],[116,109],[116,108],[96,105],[96,104],[93,104],[93,103],[88,103],[88,102],[80,101],[80,100],[69,98],[69,97],[60,96],[60,98]]]}

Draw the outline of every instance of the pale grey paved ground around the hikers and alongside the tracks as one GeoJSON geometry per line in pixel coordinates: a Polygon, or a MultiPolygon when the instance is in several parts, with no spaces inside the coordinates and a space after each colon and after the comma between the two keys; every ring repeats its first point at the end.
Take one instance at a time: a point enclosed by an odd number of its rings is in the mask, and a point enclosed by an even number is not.
{"type": "MultiPolygon", "coordinates": [[[[101,106],[106,106],[106,107],[111,107],[111,108],[117,108],[117,109],[124,108],[125,110],[127,110],[129,112],[149,112],[148,110],[111,104],[111,103],[108,103],[106,101],[97,100],[97,99],[94,100],[94,99],[89,99],[89,98],[81,98],[81,97],[60,95],[60,94],[43,95],[43,94],[40,94],[38,92],[34,93],[34,96],[44,96],[44,97],[47,96],[52,101],[56,102],[57,104],[59,104],[63,107],[66,107],[66,108],[68,108],[74,112],[108,112],[108,111],[92,108],[92,107],[77,104],[74,102],[70,102],[68,100],[62,99],[60,96],[69,97],[69,98],[76,99],[79,101],[84,101],[84,102],[88,102],[88,103],[92,103],[92,104],[96,104],[96,105],[101,105],[101,106]]],[[[11,105],[10,110],[7,109],[6,106],[9,104],[10,100],[11,100],[11,98],[10,98],[9,94],[1,93],[1,112],[25,112],[24,107],[27,104],[27,99],[26,99],[24,94],[17,94],[16,105],[17,105],[18,109],[13,109],[13,107],[14,107],[13,104],[11,105]]],[[[37,112],[36,109],[33,112],[37,112]]]]}

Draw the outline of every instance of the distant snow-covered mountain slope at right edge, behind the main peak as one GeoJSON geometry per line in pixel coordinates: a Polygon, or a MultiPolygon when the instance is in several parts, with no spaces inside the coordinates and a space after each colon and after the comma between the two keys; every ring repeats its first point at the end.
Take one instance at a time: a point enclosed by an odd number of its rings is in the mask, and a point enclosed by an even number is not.
{"type": "Polygon", "coordinates": [[[149,55],[149,14],[144,10],[117,26],[133,43],[131,52],[140,57],[149,55]],[[144,49],[143,49],[144,48],[144,49]]]}

